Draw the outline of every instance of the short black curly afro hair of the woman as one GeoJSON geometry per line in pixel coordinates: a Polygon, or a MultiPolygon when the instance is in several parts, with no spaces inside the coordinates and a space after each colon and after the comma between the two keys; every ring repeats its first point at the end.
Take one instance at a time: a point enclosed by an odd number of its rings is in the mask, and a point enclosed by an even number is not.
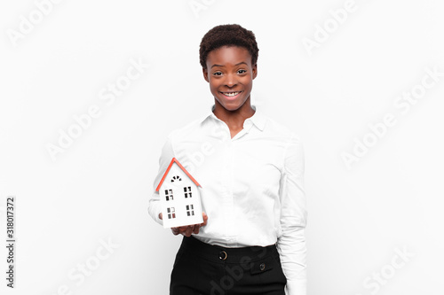
{"type": "Polygon", "coordinates": [[[253,32],[239,25],[220,25],[213,27],[202,38],[199,58],[203,68],[207,68],[207,57],[211,50],[222,46],[239,46],[249,50],[251,66],[258,62],[258,43],[253,32]]]}

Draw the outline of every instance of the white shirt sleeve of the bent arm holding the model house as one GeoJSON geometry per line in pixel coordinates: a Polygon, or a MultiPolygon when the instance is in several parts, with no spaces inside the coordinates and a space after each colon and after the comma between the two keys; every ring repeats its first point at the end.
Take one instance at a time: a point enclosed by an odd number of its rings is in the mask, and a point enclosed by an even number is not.
{"type": "Polygon", "coordinates": [[[163,225],[163,220],[159,218],[159,213],[162,212],[162,206],[160,203],[159,192],[155,191],[159,182],[163,177],[166,169],[170,165],[171,159],[174,158],[174,151],[172,147],[171,135],[167,136],[165,144],[163,144],[162,153],[159,158],[159,170],[155,176],[155,182],[153,184],[152,196],[149,199],[148,213],[159,224],[163,225]]]}

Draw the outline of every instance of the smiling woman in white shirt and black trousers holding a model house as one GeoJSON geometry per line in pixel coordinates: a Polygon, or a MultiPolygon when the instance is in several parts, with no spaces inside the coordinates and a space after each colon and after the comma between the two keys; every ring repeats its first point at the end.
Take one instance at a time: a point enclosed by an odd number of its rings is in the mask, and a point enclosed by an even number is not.
{"type": "MultiPolygon", "coordinates": [[[[175,157],[202,185],[203,223],[183,235],[170,294],[306,294],[304,151],[289,128],[250,104],[258,44],[239,25],[203,36],[200,62],[214,105],[170,133],[159,174],[175,157]]],[[[192,91],[192,90],[190,90],[192,91]]],[[[149,213],[162,224],[159,196],[149,213]]]]}

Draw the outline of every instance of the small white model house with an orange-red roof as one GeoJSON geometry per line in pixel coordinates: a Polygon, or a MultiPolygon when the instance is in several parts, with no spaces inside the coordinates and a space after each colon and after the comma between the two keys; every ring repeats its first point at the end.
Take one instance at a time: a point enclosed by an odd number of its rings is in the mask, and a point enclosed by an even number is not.
{"type": "Polygon", "coordinates": [[[178,159],[171,159],[170,166],[155,189],[159,191],[161,200],[163,228],[203,222],[201,196],[197,188],[200,186],[178,159]]]}

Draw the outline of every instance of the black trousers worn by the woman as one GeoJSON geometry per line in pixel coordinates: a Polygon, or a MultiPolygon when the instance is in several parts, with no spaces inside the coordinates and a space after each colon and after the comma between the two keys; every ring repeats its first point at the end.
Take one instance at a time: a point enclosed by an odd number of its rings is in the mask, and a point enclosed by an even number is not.
{"type": "Polygon", "coordinates": [[[226,248],[183,237],[170,295],[284,295],[287,279],[276,245],[226,248]]]}

